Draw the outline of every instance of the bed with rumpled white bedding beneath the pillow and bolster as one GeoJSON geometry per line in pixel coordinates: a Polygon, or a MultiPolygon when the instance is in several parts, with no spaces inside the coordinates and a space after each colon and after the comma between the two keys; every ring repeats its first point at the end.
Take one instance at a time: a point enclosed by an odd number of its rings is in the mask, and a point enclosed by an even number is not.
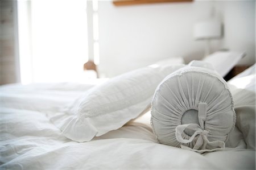
{"type": "Polygon", "coordinates": [[[1,86],[0,169],[255,169],[255,66],[228,83],[237,122],[226,148],[203,154],[158,143],[149,107],[88,142],[67,138],[49,112],[102,83],[1,86]]]}

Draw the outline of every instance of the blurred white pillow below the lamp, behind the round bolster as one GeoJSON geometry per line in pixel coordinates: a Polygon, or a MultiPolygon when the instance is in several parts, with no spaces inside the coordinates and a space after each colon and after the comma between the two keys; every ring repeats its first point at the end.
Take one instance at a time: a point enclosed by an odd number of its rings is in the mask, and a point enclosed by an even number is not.
{"type": "Polygon", "coordinates": [[[225,77],[244,56],[245,52],[217,51],[205,57],[203,61],[212,64],[213,68],[225,77]]]}

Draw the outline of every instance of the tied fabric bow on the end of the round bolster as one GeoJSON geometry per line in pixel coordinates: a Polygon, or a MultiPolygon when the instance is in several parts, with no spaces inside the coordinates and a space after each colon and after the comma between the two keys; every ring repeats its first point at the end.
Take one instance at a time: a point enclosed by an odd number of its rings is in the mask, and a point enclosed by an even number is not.
{"type": "MultiPolygon", "coordinates": [[[[225,147],[224,142],[222,142],[220,140],[210,142],[207,139],[207,134],[209,133],[209,131],[204,130],[204,122],[206,119],[206,115],[207,115],[207,103],[199,103],[199,110],[198,110],[199,125],[197,125],[196,123],[190,123],[190,124],[184,124],[184,125],[177,126],[175,128],[175,131],[176,131],[175,135],[176,135],[177,141],[180,143],[190,143],[195,139],[196,141],[193,141],[193,142],[195,142],[195,145],[193,147],[194,151],[213,150],[216,148],[224,148],[225,147]],[[183,139],[182,134],[183,134],[185,128],[187,128],[187,127],[195,132],[191,136],[191,138],[183,139]],[[196,138],[197,135],[199,135],[198,138],[196,138]]],[[[191,148],[188,148],[183,145],[181,145],[181,148],[191,150],[191,148]]]]}

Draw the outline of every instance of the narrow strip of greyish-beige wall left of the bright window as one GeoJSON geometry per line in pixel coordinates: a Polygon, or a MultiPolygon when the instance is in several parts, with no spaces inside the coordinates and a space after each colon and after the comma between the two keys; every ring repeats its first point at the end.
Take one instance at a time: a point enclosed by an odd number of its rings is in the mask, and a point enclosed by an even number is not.
{"type": "Polygon", "coordinates": [[[16,1],[0,1],[0,85],[19,82],[16,1]]]}

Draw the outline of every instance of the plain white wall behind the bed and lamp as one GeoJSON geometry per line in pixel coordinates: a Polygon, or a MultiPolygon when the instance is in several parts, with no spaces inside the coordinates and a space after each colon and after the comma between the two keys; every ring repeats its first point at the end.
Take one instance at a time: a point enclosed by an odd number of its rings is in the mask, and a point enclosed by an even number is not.
{"type": "Polygon", "coordinates": [[[100,73],[112,77],[167,57],[201,59],[204,42],[193,40],[193,24],[208,19],[212,6],[225,35],[212,51],[246,51],[240,64],[255,63],[255,1],[194,1],[114,6],[100,1],[100,73]]]}

